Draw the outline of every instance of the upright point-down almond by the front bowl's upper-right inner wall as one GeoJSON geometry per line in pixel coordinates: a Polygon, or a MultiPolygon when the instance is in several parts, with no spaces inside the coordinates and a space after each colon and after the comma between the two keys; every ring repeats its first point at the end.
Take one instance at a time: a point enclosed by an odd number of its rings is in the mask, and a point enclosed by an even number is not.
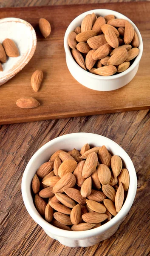
{"type": "Polygon", "coordinates": [[[111,169],[113,172],[113,176],[117,177],[119,175],[119,173],[122,170],[122,160],[119,156],[112,156],[111,158],[111,169]]]}

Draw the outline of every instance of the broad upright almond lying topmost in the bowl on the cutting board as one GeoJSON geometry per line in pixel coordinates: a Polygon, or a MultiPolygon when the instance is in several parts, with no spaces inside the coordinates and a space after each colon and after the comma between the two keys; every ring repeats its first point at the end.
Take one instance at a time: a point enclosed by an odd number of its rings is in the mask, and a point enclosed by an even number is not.
{"type": "Polygon", "coordinates": [[[114,32],[114,30],[111,27],[108,27],[106,29],[105,39],[111,47],[117,48],[119,46],[119,41],[118,41],[118,38],[116,36],[116,33],[114,32]]]}

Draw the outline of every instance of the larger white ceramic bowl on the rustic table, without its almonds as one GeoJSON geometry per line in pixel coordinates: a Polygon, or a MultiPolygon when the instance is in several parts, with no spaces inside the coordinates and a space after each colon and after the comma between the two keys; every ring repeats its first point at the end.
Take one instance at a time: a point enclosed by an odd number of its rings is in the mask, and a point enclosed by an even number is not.
{"type": "Polygon", "coordinates": [[[97,244],[99,241],[108,239],[110,236],[112,236],[122,221],[125,219],[125,216],[133,204],[133,200],[136,195],[136,187],[136,172],[128,154],[114,141],[106,137],[91,133],[67,134],[46,143],[33,155],[33,157],[31,157],[31,160],[28,162],[25,168],[22,179],[23,201],[28,213],[31,215],[34,221],[36,221],[43,228],[48,236],[53,239],[57,239],[60,243],[70,247],[92,246],[93,244],[97,244]],[[42,163],[48,161],[51,154],[53,154],[55,151],[59,149],[70,151],[74,147],[76,149],[81,149],[85,143],[89,143],[91,146],[105,145],[112,154],[119,155],[122,158],[124,167],[128,169],[130,175],[130,185],[127,198],[120,212],[117,213],[117,215],[111,221],[103,224],[101,227],[79,232],[61,230],[49,224],[37,212],[31,195],[31,180],[38,167],[42,163]]]}

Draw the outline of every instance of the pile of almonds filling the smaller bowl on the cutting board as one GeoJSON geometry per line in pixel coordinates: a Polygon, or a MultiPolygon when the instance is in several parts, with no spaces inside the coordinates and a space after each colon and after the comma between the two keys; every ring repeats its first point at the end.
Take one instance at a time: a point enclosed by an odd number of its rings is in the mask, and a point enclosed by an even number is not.
{"type": "Polygon", "coordinates": [[[133,26],[114,15],[88,14],[68,35],[68,44],[77,64],[100,76],[127,70],[139,54],[139,38],[133,26]]]}

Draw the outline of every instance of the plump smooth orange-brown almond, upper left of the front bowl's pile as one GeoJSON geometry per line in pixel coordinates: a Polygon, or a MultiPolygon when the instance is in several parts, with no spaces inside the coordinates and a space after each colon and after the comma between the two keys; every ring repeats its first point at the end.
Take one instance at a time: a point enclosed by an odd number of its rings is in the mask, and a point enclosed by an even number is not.
{"type": "Polygon", "coordinates": [[[62,162],[62,164],[59,166],[58,169],[58,175],[59,177],[63,177],[68,172],[74,172],[76,169],[77,162],[74,160],[65,160],[62,162]]]}

